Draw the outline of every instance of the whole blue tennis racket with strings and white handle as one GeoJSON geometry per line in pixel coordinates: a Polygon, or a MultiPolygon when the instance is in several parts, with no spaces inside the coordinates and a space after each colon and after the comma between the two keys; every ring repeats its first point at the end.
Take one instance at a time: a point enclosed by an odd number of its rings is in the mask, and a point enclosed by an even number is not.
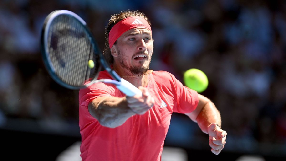
{"type": "Polygon", "coordinates": [[[142,92],[120,78],[107,64],[86,22],[67,10],[51,12],[41,34],[41,53],[51,77],[68,89],[80,89],[94,83],[111,83],[127,96],[142,92]],[[99,79],[101,66],[113,79],[99,79]]]}

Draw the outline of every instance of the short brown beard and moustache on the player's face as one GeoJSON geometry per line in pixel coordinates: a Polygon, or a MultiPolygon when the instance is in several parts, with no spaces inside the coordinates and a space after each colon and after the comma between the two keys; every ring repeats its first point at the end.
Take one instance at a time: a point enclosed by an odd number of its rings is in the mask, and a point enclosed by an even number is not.
{"type": "MultiPolygon", "coordinates": [[[[137,54],[144,54],[144,52],[138,52],[134,55],[137,54]]],[[[126,69],[128,69],[132,74],[134,75],[143,75],[146,74],[147,71],[149,70],[149,65],[150,62],[147,66],[143,66],[143,62],[142,62],[142,66],[138,67],[138,66],[128,66],[126,65],[124,62],[126,61],[126,57],[124,57],[120,51],[118,51],[118,60],[120,62],[120,65],[126,69]]]]}

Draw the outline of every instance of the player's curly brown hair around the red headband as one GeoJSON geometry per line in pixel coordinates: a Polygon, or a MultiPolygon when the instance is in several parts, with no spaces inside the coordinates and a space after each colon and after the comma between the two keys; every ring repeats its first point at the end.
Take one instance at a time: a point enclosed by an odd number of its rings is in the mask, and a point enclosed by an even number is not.
{"type": "MultiPolygon", "coordinates": [[[[111,28],[118,23],[119,21],[121,21],[122,19],[125,19],[127,17],[131,17],[131,16],[139,16],[142,17],[144,19],[146,19],[146,21],[149,23],[149,25],[151,26],[150,21],[148,20],[148,17],[141,11],[132,11],[132,10],[126,10],[126,11],[121,11],[120,13],[117,13],[115,15],[112,15],[110,17],[109,23],[105,28],[105,38],[106,38],[106,42],[105,42],[105,49],[103,51],[104,57],[106,58],[106,60],[112,64],[113,63],[113,56],[111,55],[110,52],[110,48],[109,48],[109,42],[108,42],[108,36],[109,36],[109,32],[111,30],[111,28]]],[[[116,41],[117,42],[117,41],[116,41]]],[[[116,44],[116,42],[114,44],[116,44]]]]}

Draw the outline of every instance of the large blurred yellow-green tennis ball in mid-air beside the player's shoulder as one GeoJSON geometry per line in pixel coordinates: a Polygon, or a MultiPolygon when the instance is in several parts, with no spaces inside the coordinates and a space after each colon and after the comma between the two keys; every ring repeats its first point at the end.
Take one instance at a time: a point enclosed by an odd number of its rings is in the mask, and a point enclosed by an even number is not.
{"type": "Polygon", "coordinates": [[[201,93],[208,87],[208,78],[201,70],[191,68],[184,72],[184,83],[190,89],[201,93]]]}

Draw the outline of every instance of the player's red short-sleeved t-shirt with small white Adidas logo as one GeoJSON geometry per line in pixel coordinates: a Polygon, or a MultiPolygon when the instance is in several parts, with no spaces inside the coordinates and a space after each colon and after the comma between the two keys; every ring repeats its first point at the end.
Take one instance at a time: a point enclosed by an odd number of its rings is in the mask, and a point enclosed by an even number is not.
{"type": "MultiPolygon", "coordinates": [[[[184,87],[172,74],[154,71],[146,88],[155,99],[154,107],[144,115],[133,115],[123,125],[100,125],[88,111],[88,103],[101,96],[124,97],[115,85],[96,83],[79,93],[79,118],[82,160],[159,161],[170,125],[171,114],[190,113],[198,105],[198,93],[184,87]]],[[[99,79],[110,78],[100,72],[99,79]]]]}

